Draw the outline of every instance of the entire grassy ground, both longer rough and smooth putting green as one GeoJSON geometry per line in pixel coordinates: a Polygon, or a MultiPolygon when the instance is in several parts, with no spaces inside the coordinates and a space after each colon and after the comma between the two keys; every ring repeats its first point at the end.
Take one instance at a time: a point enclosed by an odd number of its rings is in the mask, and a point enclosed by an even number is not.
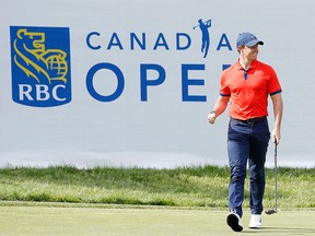
{"type": "MultiPolygon", "coordinates": [[[[1,235],[233,235],[225,224],[229,177],[228,167],[215,166],[2,168],[1,235]]],[[[269,208],[275,204],[272,169],[266,170],[266,178],[265,206],[269,208]]],[[[280,211],[264,214],[261,229],[247,227],[247,180],[243,232],[314,235],[314,168],[279,168],[280,211]]]]}

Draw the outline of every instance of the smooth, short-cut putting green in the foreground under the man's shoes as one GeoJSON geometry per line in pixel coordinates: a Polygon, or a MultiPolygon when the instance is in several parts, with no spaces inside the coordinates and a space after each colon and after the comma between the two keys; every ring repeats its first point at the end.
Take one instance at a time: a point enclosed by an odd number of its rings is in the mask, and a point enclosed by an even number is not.
{"type": "MultiPolygon", "coordinates": [[[[174,209],[95,209],[0,205],[0,235],[14,236],[202,236],[237,234],[225,224],[225,211],[174,209]]],[[[315,235],[315,211],[280,211],[262,217],[261,229],[247,235],[315,235]]]]}

